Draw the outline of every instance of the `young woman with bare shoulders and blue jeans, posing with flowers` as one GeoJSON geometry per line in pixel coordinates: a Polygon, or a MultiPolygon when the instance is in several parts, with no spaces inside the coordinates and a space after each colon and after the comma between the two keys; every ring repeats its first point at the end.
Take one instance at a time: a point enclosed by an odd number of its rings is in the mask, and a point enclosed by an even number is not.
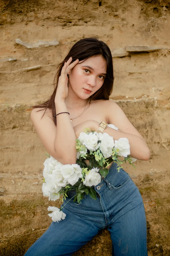
{"type": "MultiPolygon", "coordinates": [[[[97,131],[99,122],[113,137],[128,138],[131,156],[149,160],[141,134],[109,95],[113,90],[113,63],[109,47],[95,38],[73,45],[56,74],[55,89],[45,103],[34,106],[31,121],[48,153],[63,164],[76,163],[76,138],[84,128],[97,131]]],[[[52,222],[25,256],[69,256],[107,228],[114,256],[147,256],[146,216],[142,197],[127,172],[111,163],[106,178],[94,186],[97,200],[85,194],[78,204],[71,191],[64,200],[63,221],[52,222]],[[67,203],[67,204],[66,204],[67,203]]],[[[62,205],[62,206],[63,206],[62,205]]]]}

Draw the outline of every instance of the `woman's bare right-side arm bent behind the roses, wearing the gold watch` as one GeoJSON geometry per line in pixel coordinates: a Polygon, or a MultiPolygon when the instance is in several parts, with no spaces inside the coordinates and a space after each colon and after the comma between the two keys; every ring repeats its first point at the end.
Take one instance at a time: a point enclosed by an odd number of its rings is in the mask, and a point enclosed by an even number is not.
{"type": "MultiPolygon", "coordinates": [[[[130,156],[139,160],[149,160],[150,150],[147,143],[145,142],[142,135],[128,120],[123,110],[118,106],[117,103],[110,100],[106,102],[106,108],[106,112],[108,112],[107,120],[109,121],[109,124],[113,124],[118,127],[119,131],[107,127],[104,132],[112,136],[114,140],[119,140],[120,138],[127,138],[130,145],[130,156]]],[[[93,130],[97,131],[98,128],[99,123],[94,121],[93,130]]]]}

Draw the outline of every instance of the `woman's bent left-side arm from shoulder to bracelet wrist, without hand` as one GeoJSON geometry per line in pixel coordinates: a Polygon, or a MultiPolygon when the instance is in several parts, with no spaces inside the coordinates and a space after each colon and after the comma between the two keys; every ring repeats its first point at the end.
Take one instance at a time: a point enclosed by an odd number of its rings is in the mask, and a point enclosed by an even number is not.
{"type": "MultiPolygon", "coordinates": [[[[56,106],[58,113],[68,112],[65,102],[58,104],[59,106],[56,106]]],[[[56,127],[50,110],[47,109],[43,117],[45,110],[37,110],[40,109],[32,110],[30,118],[47,152],[63,164],[76,163],[76,135],[69,115],[67,113],[57,115],[56,127]]]]}

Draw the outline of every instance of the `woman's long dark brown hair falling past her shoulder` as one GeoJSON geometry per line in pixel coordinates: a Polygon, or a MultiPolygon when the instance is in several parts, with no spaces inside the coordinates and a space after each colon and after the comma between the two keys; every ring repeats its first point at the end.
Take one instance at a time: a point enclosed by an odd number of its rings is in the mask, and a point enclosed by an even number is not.
{"type": "MultiPolygon", "coordinates": [[[[109,47],[106,43],[103,41],[99,41],[97,38],[84,38],[79,40],[77,43],[75,43],[72,48],[70,49],[69,53],[65,57],[65,59],[58,65],[58,71],[54,77],[54,92],[49,97],[49,99],[39,105],[32,106],[33,108],[44,108],[45,111],[48,109],[52,110],[52,115],[56,115],[55,110],[55,94],[57,91],[58,86],[58,80],[61,75],[61,70],[64,66],[64,62],[67,61],[70,57],[72,57],[72,62],[75,60],[87,60],[88,58],[95,56],[95,55],[101,55],[106,60],[106,77],[104,80],[104,83],[102,87],[96,91],[94,94],[92,94],[88,99],[87,102],[91,102],[91,100],[99,100],[104,99],[108,100],[110,94],[113,90],[113,81],[114,81],[114,75],[113,75],[113,62],[112,62],[112,55],[109,47]]],[[[40,111],[40,110],[39,110],[40,111]]],[[[45,112],[44,112],[45,113],[45,112]]],[[[44,115],[44,114],[43,114],[44,115]]],[[[56,125],[56,117],[53,118],[54,123],[56,125]]]]}

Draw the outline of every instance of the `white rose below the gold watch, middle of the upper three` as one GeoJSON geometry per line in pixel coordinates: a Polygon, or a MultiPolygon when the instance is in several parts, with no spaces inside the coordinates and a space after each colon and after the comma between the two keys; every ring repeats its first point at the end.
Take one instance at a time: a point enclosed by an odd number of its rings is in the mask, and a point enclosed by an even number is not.
{"type": "Polygon", "coordinates": [[[112,148],[114,147],[114,140],[113,137],[109,136],[107,133],[99,133],[99,146],[100,150],[103,153],[103,156],[108,158],[112,155],[112,148]]]}

